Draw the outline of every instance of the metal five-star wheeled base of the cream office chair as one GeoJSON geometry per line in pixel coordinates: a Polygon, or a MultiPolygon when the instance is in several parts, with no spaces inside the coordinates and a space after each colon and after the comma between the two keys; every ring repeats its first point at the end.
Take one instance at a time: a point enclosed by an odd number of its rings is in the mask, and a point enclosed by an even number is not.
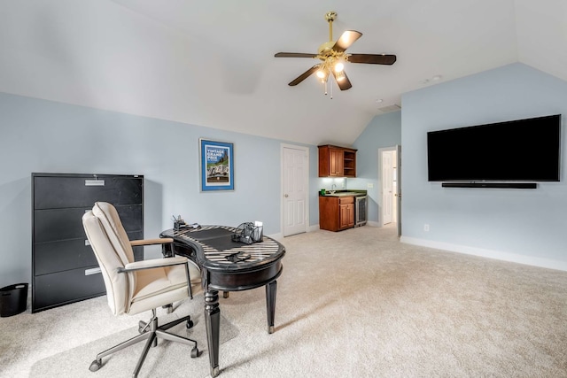
{"type": "Polygon", "coordinates": [[[158,317],[156,316],[156,311],[155,309],[151,310],[151,320],[148,321],[147,323],[145,323],[144,321],[140,321],[139,323],[140,328],[138,330],[140,332],[140,335],[134,336],[123,343],[119,343],[118,345],[115,345],[112,348],[107,349],[106,351],[98,353],[97,359],[92,361],[92,363],[89,366],[89,370],[91,372],[96,372],[99,368],[103,366],[102,359],[104,357],[109,356],[116,351],[121,351],[124,348],[128,348],[128,346],[134,345],[135,343],[140,343],[146,340],[144,351],[142,351],[142,355],[138,359],[136,368],[134,369],[134,373],[132,374],[133,377],[137,377],[137,375],[140,373],[140,369],[142,368],[142,364],[144,364],[144,360],[148,355],[148,351],[150,351],[150,348],[152,346],[158,345],[159,338],[164,340],[169,340],[171,342],[192,345],[193,349],[191,350],[190,356],[192,359],[198,357],[197,342],[195,340],[191,340],[190,338],[187,337],[177,336],[169,332],[166,332],[167,329],[175,327],[177,324],[183,321],[187,321],[187,328],[193,327],[193,322],[190,320],[189,315],[184,316],[181,319],[170,321],[169,323],[166,323],[158,327],[158,317]]]}

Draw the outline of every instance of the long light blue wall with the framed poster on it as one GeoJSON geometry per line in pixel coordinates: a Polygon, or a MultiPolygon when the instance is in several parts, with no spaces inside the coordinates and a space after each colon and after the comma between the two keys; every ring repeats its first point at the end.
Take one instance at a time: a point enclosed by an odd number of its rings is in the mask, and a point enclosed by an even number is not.
{"type": "MultiPolygon", "coordinates": [[[[171,228],[172,214],[230,226],[262,220],[266,235],[281,232],[283,141],[2,93],[0,127],[2,286],[31,280],[33,172],[144,174],[146,237],[171,228]],[[201,137],[234,143],[234,191],[199,191],[201,137]]],[[[309,151],[316,188],[316,146],[309,151]]],[[[317,224],[316,189],[311,192],[310,223],[317,224]]]]}

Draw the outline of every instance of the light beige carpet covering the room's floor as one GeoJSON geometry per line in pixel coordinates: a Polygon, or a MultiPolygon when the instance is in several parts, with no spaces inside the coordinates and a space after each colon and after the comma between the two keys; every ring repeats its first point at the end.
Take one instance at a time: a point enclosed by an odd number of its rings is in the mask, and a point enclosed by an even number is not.
{"type": "MultiPolygon", "coordinates": [[[[567,272],[400,243],[393,228],[282,242],[274,334],[263,288],[220,298],[222,316],[239,331],[221,344],[223,378],[567,377],[567,272]]],[[[44,377],[36,368],[29,374],[35,362],[137,320],[126,321],[101,298],[2,318],[0,376],[44,377]]],[[[153,377],[199,377],[179,368],[185,363],[169,372],[146,367],[153,377]]],[[[131,366],[113,370],[131,374],[131,366]]]]}

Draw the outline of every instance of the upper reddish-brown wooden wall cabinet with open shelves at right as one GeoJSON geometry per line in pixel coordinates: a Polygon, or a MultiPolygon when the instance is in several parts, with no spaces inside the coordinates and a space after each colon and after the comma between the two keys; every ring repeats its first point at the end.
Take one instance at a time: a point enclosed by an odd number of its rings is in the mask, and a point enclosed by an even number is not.
{"type": "Polygon", "coordinates": [[[319,177],[356,177],[356,150],[319,146],[319,177]]]}

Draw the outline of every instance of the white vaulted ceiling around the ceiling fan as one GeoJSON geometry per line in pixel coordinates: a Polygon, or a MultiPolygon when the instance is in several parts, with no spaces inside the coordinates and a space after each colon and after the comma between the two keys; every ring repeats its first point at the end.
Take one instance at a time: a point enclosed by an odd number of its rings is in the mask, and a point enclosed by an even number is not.
{"type": "Polygon", "coordinates": [[[0,0],[0,91],[299,143],[349,145],[400,95],[514,62],[567,80],[562,0],[0,0]],[[293,80],[329,39],[351,53],[333,99],[293,80]],[[441,81],[423,84],[441,75],[441,81]],[[377,99],[382,99],[378,104],[377,99]]]}

